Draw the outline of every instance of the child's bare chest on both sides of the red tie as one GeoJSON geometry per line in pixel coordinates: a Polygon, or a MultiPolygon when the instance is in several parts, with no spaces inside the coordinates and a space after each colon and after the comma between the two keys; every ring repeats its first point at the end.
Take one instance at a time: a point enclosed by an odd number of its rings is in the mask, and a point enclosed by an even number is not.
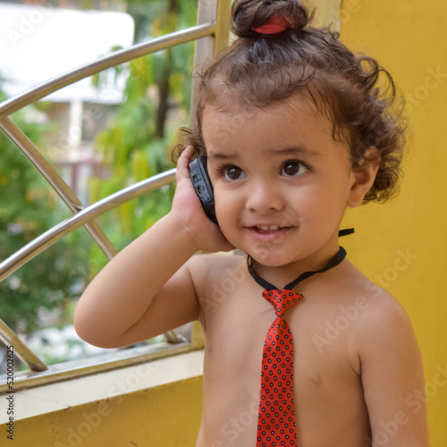
{"type": "MultiPolygon", "coordinates": [[[[360,379],[350,365],[350,332],[346,328],[336,335],[327,333],[327,322],[337,314],[309,302],[310,298],[284,315],[293,337],[294,401],[301,445],[305,440],[306,446],[325,445],[319,439],[324,420],[333,435],[339,435],[346,421],[356,421],[358,433],[353,436],[360,439],[368,430],[367,411],[360,379]],[[328,425],[327,420],[332,422],[328,425]]],[[[243,284],[208,312],[202,435],[211,432],[219,442],[216,446],[247,447],[251,440],[254,445],[262,350],[275,317],[262,291],[243,284]]]]}

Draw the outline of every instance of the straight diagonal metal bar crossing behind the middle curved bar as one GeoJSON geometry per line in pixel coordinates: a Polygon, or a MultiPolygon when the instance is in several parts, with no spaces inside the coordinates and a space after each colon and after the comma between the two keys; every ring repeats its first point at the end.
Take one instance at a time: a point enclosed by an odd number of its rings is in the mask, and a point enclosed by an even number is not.
{"type": "MultiPolygon", "coordinates": [[[[83,209],[79,198],[76,197],[72,189],[56,173],[55,168],[47,162],[46,158],[38,151],[38,148],[34,146],[11,118],[5,118],[3,121],[0,121],[0,129],[21,149],[23,155],[27,156],[30,162],[38,168],[38,171],[45,177],[46,181],[54,188],[73,213],[78,213],[80,209],[83,209]]],[[[118,251],[100,226],[95,222],[91,222],[86,224],[86,229],[97,242],[99,248],[104,251],[105,256],[112,259],[118,251]]]]}

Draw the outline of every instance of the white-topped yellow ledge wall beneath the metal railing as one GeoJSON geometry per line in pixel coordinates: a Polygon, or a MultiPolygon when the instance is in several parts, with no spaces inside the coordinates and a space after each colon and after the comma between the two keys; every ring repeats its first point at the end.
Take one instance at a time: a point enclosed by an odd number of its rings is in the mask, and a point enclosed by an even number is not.
{"type": "Polygon", "coordinates": [[[0,396],[0,444],[194,446],[203,350],[0,396]],[[11,406],[10,402],[13,402],[11,406]],[[13,426],[8,426],[8,409],[13,426]]]}

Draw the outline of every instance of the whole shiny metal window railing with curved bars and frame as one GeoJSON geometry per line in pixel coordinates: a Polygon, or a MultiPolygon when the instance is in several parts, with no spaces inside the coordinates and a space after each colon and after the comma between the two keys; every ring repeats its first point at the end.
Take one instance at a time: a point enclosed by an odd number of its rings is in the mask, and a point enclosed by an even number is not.
{"type": "MultiPolygon", "coordinates": [[[[228,45],[230,5],[231,0],[198,0],[198,24],[196,26],[114,52],[92,63],[75,68],[71,72],[65,72],[52,80],[47,80],[0,104],[0,129],[21,150],[23,155],[28,157],[30,163],[34,164],[73,213],[72,217],[58,223],[55,227],[44,232],[11,257],[1,262],[0,281],[3,281],[18,268],[28,263],[30,259],[38,256],[39,253],[50,247],[57,240],[61,240],[65,235],[75,231],[80,226],[84,226],[87,229],[93,240],[95,240],[100,249],[105,253],[105,256],[111,259],[117,250],[114,248],[112,242],[108,240],[105,232],[94,222],[94,219],[133,198],[137,198],[142,194],[146,194],[151,190],[156,190],[170,183],[173,181],[175,175],[175,169],[157,174],[154,177],[140,181],[107,198],[99,200],[89,207],[83,207],[79,198],[77,198],[72,189],[63,181],[62,177],[55,171],[55,168],[47,162],[46,158],[38,151],[38,148],[35,147],[23,131],[13,122],[10,118],[11,114],[21,110],[26,105],[30,105],[48,96],[58,89],[63,89],[63,87],[88,78],[98,72],[102,72],[121,63],[130,62],[132,59],[150,55],[157,51],[190,41],[196,41],[194,71],[197,72],[207,58],[212,57],[228,45]]],[[[193,73],[191,73],[192,75],[193,73]]],[[[193,82],[191,110],[194,110],[194,108],[193,82]]],[[[191,113],[191,116],[193,115],[191,113]]],[[[7,346],[13,345],[15,354],[30,367],[30,371],[23,372],[16,377],[16,389],[21,386],[30,387],[36,384],[64,380],[78,375],[91,374],[99,370],[128,366],[147,361],[148,358],[164,357],[173,352],[198,347],[198,343],[195,343],[194,340],[191,343],[182,342],[173,331],[165,333],[164,336],[167,342],[166,344],[172,344],[173,346],[165,346],[163,352],[161,350],[153,352],[154,350],[145,351],[138,349],[133,350],[134,352],[126,352],[125,354],[121,353],[114,356],[98,356],[96,360],[89,359],[83,366],[80,366],[79,363],[76,366],[67,363],[63,364],[62,367],[61,365],[46,367],[38,356],[25,343],[21,342],[17,334],[0,319],[0,340],[7,346]]],[[[4,391],[3,385],[0,384],[0,392],[2,391],[4,391]]]]}

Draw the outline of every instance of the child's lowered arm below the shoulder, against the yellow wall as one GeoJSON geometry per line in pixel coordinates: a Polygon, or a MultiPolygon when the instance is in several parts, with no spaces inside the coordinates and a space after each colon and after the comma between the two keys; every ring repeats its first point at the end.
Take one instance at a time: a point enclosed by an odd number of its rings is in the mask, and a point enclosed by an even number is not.
{"type": "Polygon", "coordinates": [[[409,317],[392,297],[375,301],[358,340],[372,446],[428,447],[422,361],[409,317]]]}

